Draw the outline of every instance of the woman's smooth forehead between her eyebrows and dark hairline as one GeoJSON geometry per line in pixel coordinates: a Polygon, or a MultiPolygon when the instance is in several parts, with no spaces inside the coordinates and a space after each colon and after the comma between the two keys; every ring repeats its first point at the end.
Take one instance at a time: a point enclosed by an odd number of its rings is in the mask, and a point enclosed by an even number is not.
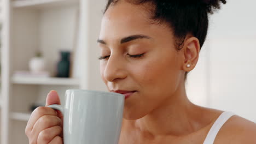
{"type": "Polygon", "coordinates": [[[100,38],[126,37],[154,31],[149,14],[145,5],[135,5],[125,1],[111,5],[102,18],[100,38]]]}

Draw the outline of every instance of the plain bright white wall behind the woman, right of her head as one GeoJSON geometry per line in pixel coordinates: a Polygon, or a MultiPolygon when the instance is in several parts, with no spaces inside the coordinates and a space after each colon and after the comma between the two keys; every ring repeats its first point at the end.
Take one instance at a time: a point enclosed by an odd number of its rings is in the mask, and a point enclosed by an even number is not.
{"type": "Polygon", "coordinates": [[[188,77],[188,96],[196,104],[256,122],[256,2],[228,1],[211,16],[199,64],[188,77]]]}

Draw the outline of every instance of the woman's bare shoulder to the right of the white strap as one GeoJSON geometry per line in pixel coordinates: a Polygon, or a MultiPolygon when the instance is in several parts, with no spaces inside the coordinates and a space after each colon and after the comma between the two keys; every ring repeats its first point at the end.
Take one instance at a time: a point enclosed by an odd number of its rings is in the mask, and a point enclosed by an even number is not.
{"type": "Polygon", "coordinates": [[[219,130],[214,143],[256,143],[256,124],[234,115],[219,130]]]}

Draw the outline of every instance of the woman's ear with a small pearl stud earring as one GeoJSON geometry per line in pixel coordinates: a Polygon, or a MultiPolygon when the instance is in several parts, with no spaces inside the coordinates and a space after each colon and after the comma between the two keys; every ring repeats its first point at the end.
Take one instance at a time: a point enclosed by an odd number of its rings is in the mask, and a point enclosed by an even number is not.
{"type": "Polygon", "coordinates": [[[183,52],[184,52],[183,70],[191,71],[195,68],[195,65],[199,58],[199,52],[200,52],[199,40],[195,37],[190,37],[186,39],[184,41],[183,52]]]}

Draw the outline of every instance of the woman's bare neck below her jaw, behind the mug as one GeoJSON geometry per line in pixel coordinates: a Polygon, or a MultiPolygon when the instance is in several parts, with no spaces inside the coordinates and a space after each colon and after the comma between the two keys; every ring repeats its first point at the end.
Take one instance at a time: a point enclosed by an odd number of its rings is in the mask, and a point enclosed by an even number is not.
{"type": "Polygon", "coordinates": [[[184,83],[177,91],[148,115],[135,121],[127,121],[140,133],[150,136],[182,136],[201,128],[200,107],[187,98],[184,83]]]}

